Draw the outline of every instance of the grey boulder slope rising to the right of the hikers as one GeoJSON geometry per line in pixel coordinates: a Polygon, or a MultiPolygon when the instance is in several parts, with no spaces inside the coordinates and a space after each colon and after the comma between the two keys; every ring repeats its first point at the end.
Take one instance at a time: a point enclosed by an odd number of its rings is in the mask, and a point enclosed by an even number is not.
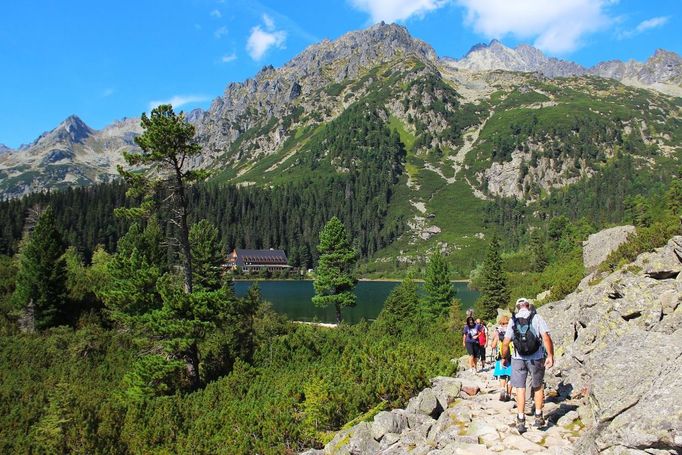
{"type": "Polygon", "coordinates": [[[682,282],[659,273],[679,274],[680,247],[682,236],[674,237],[540,308],[557,357],[546,380],[560,394],[587,394],[595,420],[576,453],[682,450],[682,282]]]}

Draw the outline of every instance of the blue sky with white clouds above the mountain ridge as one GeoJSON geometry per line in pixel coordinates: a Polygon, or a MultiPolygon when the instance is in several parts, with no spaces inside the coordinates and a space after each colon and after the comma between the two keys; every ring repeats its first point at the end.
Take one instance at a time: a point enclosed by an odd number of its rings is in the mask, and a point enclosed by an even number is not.
{"type": "Polygon", "coordinates": [[[102,128],[160,102],[206,108],[228,83],[381,20],[440,56],[498,38],[591,66],[682,53],[681,16],[681,0],[8,1],[0,143],[31,142],[71,114],[102,128]]]}

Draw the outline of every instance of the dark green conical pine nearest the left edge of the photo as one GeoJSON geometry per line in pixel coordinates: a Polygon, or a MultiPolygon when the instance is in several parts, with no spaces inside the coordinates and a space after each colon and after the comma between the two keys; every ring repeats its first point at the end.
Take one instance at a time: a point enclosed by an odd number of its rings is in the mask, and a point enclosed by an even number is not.
{"type": "Polygon", "coordinates": [[[19,254],[12,298],[14,306],[26,316],[22,320],[29,332],[59,323],[67,300],[65,249],[55,224],[54,212],[47,207],[24,239],[19,254]]]}

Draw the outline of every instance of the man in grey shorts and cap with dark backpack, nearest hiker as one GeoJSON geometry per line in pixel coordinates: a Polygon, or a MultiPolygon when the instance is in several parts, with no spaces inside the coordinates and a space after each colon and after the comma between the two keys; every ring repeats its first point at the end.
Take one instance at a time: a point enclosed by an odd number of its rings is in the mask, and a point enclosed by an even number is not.
{"type": "Polygon", "coordinates": [[[531,374],[531,392],[535,402],[535,421],[533,426],[545,426],[542,415],[544,404],[545,368],[554,365],[554,345],[549,336],[549,328],[542,317],[531,310],[526,298],[516,301],[516,314],[512,316],[502,342],[502,365],[507,365],[509,343],[514,342],[511,356],[511,385],[516,389],[516,428],[519,433],[526,431],[526,378],[531,374]],[[544,348],[543,348],[544,346],[544,348]]]}

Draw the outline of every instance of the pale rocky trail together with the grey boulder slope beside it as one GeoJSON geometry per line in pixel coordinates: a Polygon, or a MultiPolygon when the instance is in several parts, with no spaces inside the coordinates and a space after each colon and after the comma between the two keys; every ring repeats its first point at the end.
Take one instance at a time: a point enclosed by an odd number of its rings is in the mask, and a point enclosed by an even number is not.
{"type": "Polygon", "coordinates": [[[682,453],[682,236],[600,272],[594,263],[625,239],[601,240],[613,232],[585,242],[592,272],[578,289],[538,310],[555,351],[545,428],[527,417],[519,434],[513,402],[500,401],[491,372],[467,371],[463,357],[456,377],[433,378],[405,409],[380,412],[305,454],[682,453]]]}

